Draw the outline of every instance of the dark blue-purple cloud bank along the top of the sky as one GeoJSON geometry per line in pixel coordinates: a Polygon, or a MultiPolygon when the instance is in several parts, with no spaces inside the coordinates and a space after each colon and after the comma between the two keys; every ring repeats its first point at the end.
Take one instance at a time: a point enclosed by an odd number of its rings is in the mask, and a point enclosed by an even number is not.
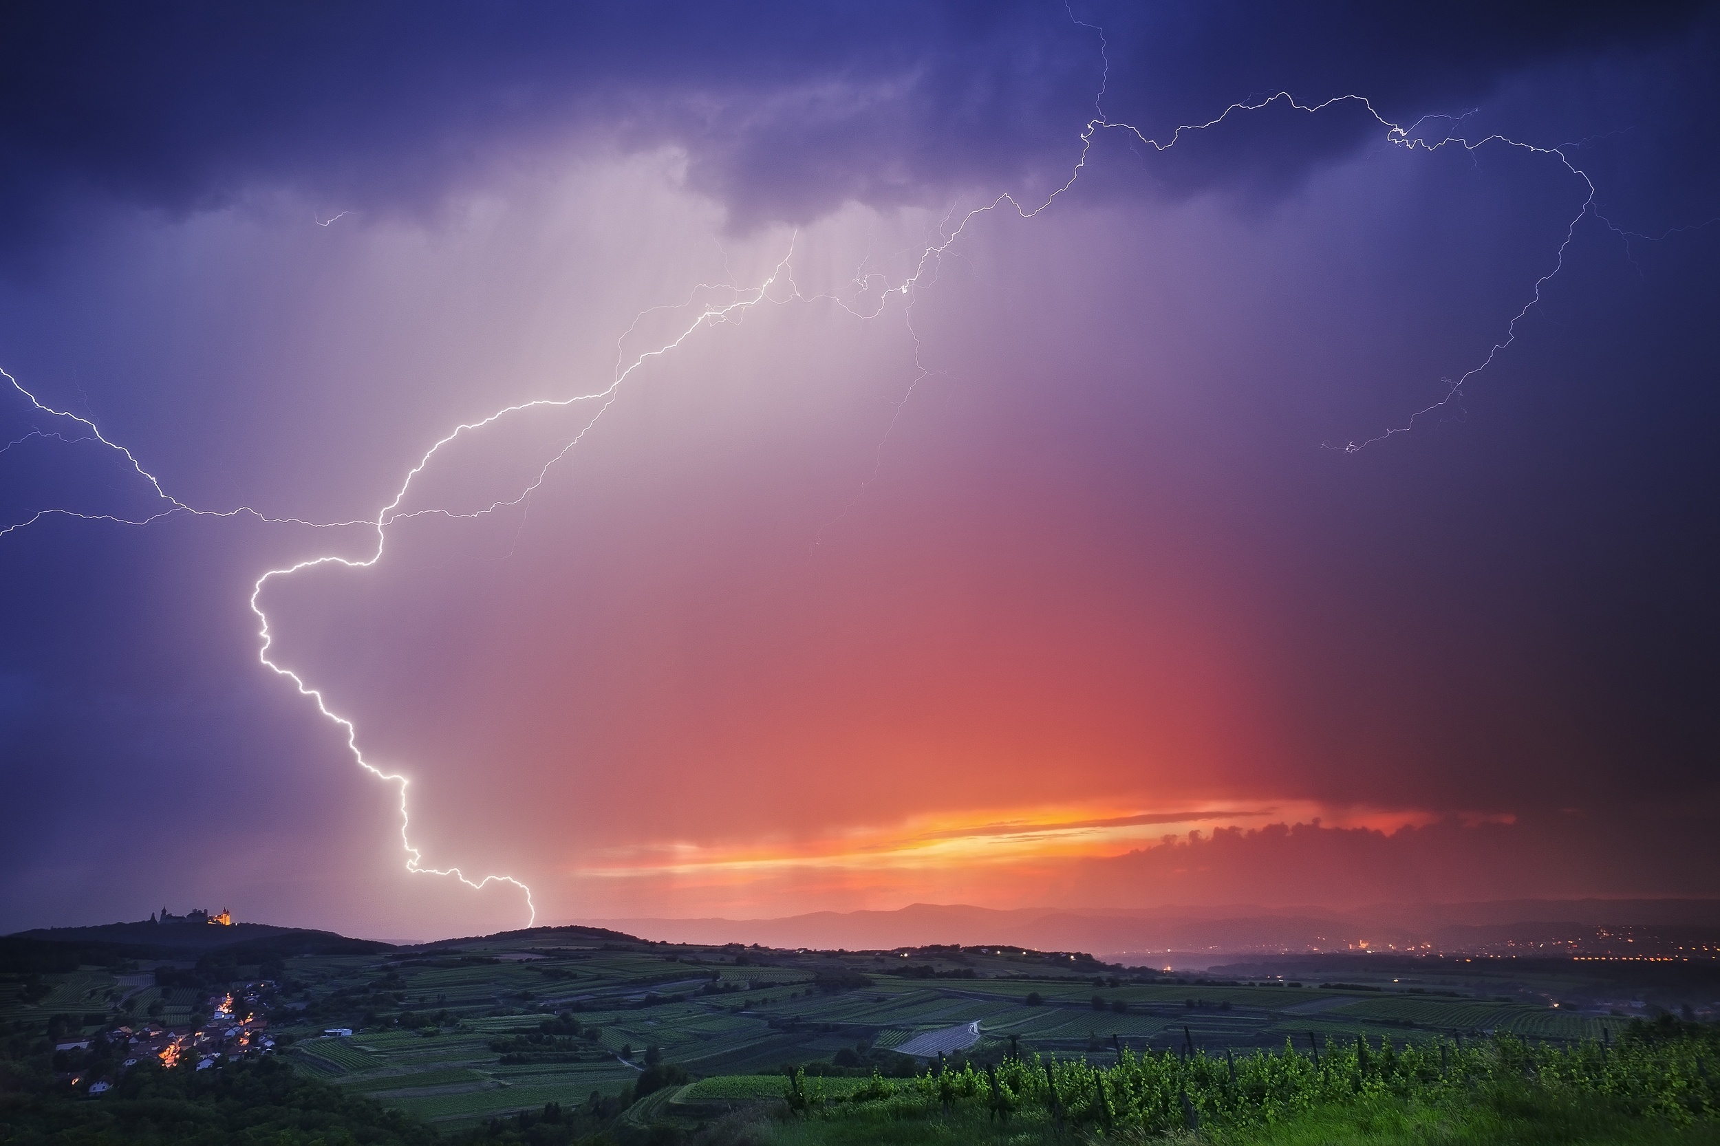
{"type": "MultiPolygon", "coordinates": [[[[855,198],[1032,193],[1066,177],[1101,79],[1099,36],[1072,14],[1104,28],[1106,112],[1151,132],[1276,89],[1366,93],[1407,122],[1467,110],[1524,69],[1706,41],[1713,21],[1684,0],[7,5],[0,243],[40,243],[89,201],[181,213],[258,186],[425,206],[568,136],[685,148],[691,182],[740,227],[855,198]]],[[[1598,129],[1643,131],[1612,122],[1637,110],[1612,107],[1598,129]]],[[[1281,184],[1369,134],[1354,112],[1295,129],[1256,117],[1154,182],[1281,184]]]]}

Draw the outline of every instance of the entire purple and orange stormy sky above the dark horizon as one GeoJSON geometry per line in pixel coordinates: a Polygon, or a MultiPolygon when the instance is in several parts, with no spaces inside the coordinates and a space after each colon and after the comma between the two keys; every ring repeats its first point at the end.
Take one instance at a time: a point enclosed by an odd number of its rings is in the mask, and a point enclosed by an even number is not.
{"type": "Polygon", "coordinates": [[[0,929],[1720,893],[1615,9],[9,9],[0,929]]]}

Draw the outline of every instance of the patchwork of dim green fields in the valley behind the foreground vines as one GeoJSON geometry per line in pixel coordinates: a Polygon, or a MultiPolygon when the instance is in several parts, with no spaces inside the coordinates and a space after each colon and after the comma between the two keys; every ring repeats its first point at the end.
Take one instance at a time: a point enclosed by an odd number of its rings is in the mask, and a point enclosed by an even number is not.
{"type": "MultiPolygon", "coordinates": [[[[963,1060],[1092,1067],[1125,1055],[1228,1062],[1281,1053],[1287,1041],[1299,1055],[1354,1053],[1357,1039],[1397,1051],[1436,1039],[1469,1046],[1490,1032],[1563,1046],[1617,1041],[1627,1022],[1551,1005],[1582,988],[1582,967],[1526,974],[1450,960],[1400,983],[1386,964],[1359,962],[1345,972],[1350,986],[1321,988],[1178,979],[1032,952],[910,955],[590,941],[576,929],[538,929],[287,958],[268,1017],[280,1057],[304,1075],[454,1131],[545,1105],[617,1117],[611,1108],[631,1098],[647,1055],[690,1082],[678,1075],[652,1094],[630,1115],[635,1129],[781,1103],[784,1065],[822,1074],[819,1101],[841,1103],[870,1087],[874,1070],[903,1077],[927,1067],[891,1048],[972,1022],[980,1038],[963,1060]],[[322,1034],[337,1026],[354,1034],[322,1034]]],[[[33,1000],[21,983],[0,983],[0,1019],[88,1032],[98,1027],[84,1019],[139,1020],[160,1001],[162,1019],[182,1024],[208,993],[146,983],[131,974],[122,988],[107,970],[83,969],[41,977],[33,1000]],[[132,1010],[114,1010],[126,991],[132,1010]]]]}

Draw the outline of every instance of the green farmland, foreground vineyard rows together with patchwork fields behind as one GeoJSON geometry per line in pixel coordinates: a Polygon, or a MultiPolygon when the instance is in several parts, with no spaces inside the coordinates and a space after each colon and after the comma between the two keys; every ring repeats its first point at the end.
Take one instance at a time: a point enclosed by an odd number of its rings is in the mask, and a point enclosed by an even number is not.
{"type": "MultiPolygon", "coordinates": [[[[569,931],[292,957],[270,1031],[303,1077],[452,1134],[497,1118],[518,1127],[545,1110],[580,1118],[581,1134],[659,1122],[693,1134],[793,1108],[805,1117],[759,1141],[970,1143],[1008,1125],[1022,1143],[1080,1143],[1194,1124],[1242,1134],[1331,1103],[1460,1101],[1515,1079],[1662,1122],[1684,1110],[1720,1139],[1703,1089],[1705,1069],[1720,1074],[1720,1051],[1706,1067],[1643,1058],[1668,1051],[1625,1046],[1629,1019],[1603,1001],[1646,996],[1625,1005],[1675,1012],[1715,998],[1711,979],[1656,995],[1605,967],[1366,958],[1336,974],[1250,981],[1022,950],[905,958],[612,934],[574,946],[569,931]],[[323,1036],[329,1027],[353,1036],[323,1036]],[[939,1031],[977,1038],[924,1038],[939,1031]],[[654,1065],[662,1070],[648,1077],[654,1065]],[[908,1127],[906,1137],[886,1124],[908,1127]],[[820,1137],[843,1125],[848,1137],[820,1137]],[[920,1131],[932,1137],[913,1137],[920,1131]]],[[[153,1019],[189,1022],[208,993],[134,977],[86,969],[40,976],[28,991],[5,983],[0,1019],[89,1038],[155,1003],[153,1019]],[[136,991],[129,1012],[120,988],[136,991]]]]}

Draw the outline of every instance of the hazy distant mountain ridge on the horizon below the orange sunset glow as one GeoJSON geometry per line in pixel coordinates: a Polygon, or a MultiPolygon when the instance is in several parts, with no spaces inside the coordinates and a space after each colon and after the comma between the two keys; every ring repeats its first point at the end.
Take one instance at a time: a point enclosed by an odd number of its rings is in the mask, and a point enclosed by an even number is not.
{"type": "Polygon", "coordinates": [[[1323,907],[1187,905],[1156,909],[987,909],[912,903],[898,910],[808,912],[779,919],[587,919],[671,943],[759,943],[781,948],[889,950],[934,943],[1010,945],[1041,952],[1089,952],[1101,958],[1154,952],[1252,953],[1271,950],[1436,950],[1515,927],[1548,926],[1720,927],[1720,900],[1496,900],[1477,903],[1379,903],[1359,910],[1323,907]]]}

